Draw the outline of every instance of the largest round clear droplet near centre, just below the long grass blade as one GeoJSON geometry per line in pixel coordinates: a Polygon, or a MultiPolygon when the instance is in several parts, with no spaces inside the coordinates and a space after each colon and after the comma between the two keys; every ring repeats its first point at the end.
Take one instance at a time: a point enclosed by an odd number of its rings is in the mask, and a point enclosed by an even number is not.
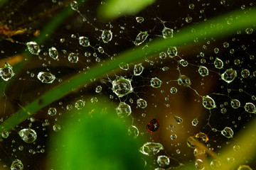
{"type": "Polygon", "coordinates": [[[118,97],[125,96],[133,91],[130,79],[124,79],[119,77],[112,81],[112,91],[117,94],[118,97]]]}

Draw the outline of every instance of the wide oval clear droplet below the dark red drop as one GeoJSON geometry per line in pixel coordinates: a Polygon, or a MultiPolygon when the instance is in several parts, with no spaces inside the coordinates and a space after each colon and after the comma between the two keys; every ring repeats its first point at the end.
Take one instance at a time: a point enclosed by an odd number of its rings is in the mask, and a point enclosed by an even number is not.
{"type": "Polygon", "coordinates": [[[164,149],[160,143],[146,142],[140,149],[139,152],[147,156],[157,154],[160,150],[164,149]]]}

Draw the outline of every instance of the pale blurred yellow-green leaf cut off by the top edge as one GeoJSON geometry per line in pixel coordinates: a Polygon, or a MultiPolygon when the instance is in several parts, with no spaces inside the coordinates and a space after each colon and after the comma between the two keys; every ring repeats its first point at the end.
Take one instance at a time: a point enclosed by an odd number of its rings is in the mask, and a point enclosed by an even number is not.
{"type": "Polygon", "coordinates": [[[124,15],[134,15],[154,3],[155,0],[107,0],[98,8],[98,14],[105,19],[113,19],[124,15]]]}

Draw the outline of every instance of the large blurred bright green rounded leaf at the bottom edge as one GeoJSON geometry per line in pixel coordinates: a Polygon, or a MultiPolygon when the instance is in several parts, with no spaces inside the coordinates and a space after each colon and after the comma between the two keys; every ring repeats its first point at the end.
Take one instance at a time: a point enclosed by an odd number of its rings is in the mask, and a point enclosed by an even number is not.
{"type": "Polygon", "coordinates": [[[64,128],[53,134],[51,169],[143,169],[137,140],[127,135],[127,126],[112,104],[86,103],[85,109],[73,113],[72,120],[69,113],[64,128]]]}

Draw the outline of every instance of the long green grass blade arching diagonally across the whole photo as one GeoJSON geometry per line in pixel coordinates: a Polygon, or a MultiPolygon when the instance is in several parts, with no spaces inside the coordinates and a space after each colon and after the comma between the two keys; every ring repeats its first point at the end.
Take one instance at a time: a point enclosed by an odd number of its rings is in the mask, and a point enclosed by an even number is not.
{"type": "Polygon", "coordinates": [[[251,27],[256,23],[256,20],[254,19],[256,16],[256,8],[252,8],[252,10],[248,11],[246,15],[243,11],[234,13],[240,17],[234,20],[233,24],[231,25],[228,25],[225,21],[225,18],[230,16],[230,13],[228,15],[213,19],[216,26],[217,24],[222,25],[222,30],[213,28],[213,21],[208,21],[206,23],[201,23],[198,24],[198,26],[195,26],[194,29],[196,29],[196,33],[191,33],[190,28],[185,28],[181,30],[180,33],[174,35],[174,38],[168,40],[154,40],[148,45],[148,47],[145,47],[144,50],[142,50],[142,47],[137,47],[133,50],[128,50],[127,52],[122,53],[117,57],[116,60],[106,61],[104,64],[102,64],[102,66],[92,67],[92,69],[89,71],[82,72],[71,78],[69,81],[65,81],[63,84],[56,86],[54,89],[51,89],[32,103],[28,104],[28,106],[25,106],[17,113],[14,113],[14,115],[11,115],[9,119],[0,125],[0,129],[11,130],[16,125],[18,125],[18,123],[21,123],[23,120],[33,115],[41,108],[72,92],[72,89],[78,88],[83,84],[87,84],[90,82],[90,79],[100,78],[107,72],[111,72],[113,69],[118,68],[119,63],[121,62],[136,62],[137,60],[141,60],[144,57],[149,57],[156,54],[157,52],[164,51],[166,50],[166,47],[172,45],[183,46],[189,44],[193,42],[194,38],[203,40],[204,38],[220,38],[223,35],[233,35],[236,30],[245,29],[249,26],[251,27]]]}

